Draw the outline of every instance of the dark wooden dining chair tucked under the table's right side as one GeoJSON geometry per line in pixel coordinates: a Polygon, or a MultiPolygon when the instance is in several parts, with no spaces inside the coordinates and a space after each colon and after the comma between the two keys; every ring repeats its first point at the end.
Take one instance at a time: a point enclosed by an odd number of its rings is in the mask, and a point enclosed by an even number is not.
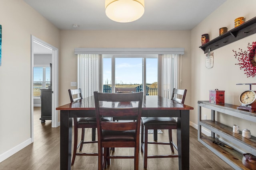
{"type": "MultiPolygon", "coordinates": [[[[187,90],[173,89],[172,100],[184,104],[187,90]]],[[[142,117],[141,118],[141,151],[144,152],[144,168],[147,168],[148,158],[175,158],[178,154],[174,154],[173,147],[178,150],[177,146],[172,141],[172,129],[177,129],[177,121],[173,117],[142,117]],[[149,142],[148,129],[167,129],[169,142],[149,142]],[[172,154],[169,155],[148,155],[148,144],[170,145],[172,154]]]]}

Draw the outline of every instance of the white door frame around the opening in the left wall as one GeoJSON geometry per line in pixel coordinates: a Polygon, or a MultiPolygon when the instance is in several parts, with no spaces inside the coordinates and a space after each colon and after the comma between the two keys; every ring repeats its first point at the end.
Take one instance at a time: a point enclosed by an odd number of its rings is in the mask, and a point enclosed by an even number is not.
{"type": "MultiPolygon", "coordinates": [[[[40,43],[41,45],[52,49],[52,127],[60,126],[60,122],[58,121],[58,111],[55,109],[58,106],[58,48],[46,43],[45,41],[31,35],[31,96],[30,96],[30,113],[31,113],[31,139],[34,141],[34,100],[33,100],[33,67],[34,67],[34,42],[40,43]]],[[[38,123],[40,121],[38,120],[38,123]]]]}

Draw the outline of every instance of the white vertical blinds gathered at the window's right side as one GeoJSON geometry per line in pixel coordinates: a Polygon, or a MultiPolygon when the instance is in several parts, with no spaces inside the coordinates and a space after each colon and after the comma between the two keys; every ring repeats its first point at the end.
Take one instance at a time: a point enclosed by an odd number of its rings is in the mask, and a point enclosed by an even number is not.
{"type": "Polygon", "coordinates": [[[178,87],[178,54],[159,55],[161,75],[161,96],[170,99],[173,88],[178,87]]]}

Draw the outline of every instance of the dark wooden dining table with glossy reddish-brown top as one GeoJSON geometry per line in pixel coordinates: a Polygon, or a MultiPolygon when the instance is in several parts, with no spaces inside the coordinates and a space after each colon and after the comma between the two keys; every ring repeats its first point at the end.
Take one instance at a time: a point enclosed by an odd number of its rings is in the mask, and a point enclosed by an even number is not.
{"type": "MultiPolygon", "coordinates": [[[[123,107],[123,106],[122,106],[123,107]]],[[[177,117],[178,164],[189,169],[189,121],[191,106],[161,96],[143,96],[142,117],[177,117]]],[[[60,169],[71,169],[72,118],[95,117],[94,96],[63,106],[60,110],[60,169]]]]}

